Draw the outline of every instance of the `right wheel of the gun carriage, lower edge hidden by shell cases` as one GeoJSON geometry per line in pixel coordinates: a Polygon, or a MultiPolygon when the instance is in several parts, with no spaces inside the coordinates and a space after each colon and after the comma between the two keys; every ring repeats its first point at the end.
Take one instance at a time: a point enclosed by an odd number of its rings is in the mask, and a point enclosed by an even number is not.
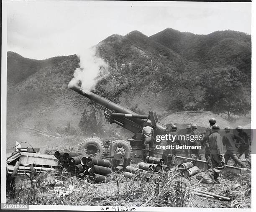
{"type": "Polygon", "coordinates": [[[124,157],[126,152],[133,154],[133,149],[131,148],[131,145],[126,140],[114,140],[113,143],[108,147],[108,156],[110,156],[110,153],[112,155],[114,152],[120,152],[122,153],[121,157],[124,157]]]}

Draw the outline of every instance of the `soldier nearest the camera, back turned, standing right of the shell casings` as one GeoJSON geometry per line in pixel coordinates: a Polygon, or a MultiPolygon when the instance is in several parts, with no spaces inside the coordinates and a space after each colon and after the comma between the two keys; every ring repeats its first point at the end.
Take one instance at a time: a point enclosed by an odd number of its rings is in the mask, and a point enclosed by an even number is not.
{"type": "Polygon", "coordinates": [[[211,150],[211,161],[212,161],[212,173],[209,176],[217,183],[220,184],[218,180],[219,172],[225,168],[225,159],[222,155],[223,146],[222,139],[219,134],[220,127],[218,125],[212,126],[212,133],[208,138],[208,142],[211,150]]]}

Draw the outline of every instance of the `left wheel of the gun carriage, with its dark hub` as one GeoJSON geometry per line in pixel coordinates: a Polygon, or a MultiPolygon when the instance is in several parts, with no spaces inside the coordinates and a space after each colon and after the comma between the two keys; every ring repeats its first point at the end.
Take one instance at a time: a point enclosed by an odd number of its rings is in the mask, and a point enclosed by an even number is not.
{"type": "Polygon", "coordinates": [[[105,146],[100,138],[86,138],[79,144],[78,151],[92,158],[103,158],[105,146]]]}

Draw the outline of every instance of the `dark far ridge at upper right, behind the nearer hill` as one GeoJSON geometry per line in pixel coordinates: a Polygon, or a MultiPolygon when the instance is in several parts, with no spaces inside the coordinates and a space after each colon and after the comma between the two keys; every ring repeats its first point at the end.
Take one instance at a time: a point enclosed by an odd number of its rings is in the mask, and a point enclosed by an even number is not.
{"type": "Polygon", "coordinates": [[[251,36],[246,33],[226,30],[195,35],[167,28],[150,38],[186,59],[198,61],[203,68],[233,64],[251,73],[251,36]]]}

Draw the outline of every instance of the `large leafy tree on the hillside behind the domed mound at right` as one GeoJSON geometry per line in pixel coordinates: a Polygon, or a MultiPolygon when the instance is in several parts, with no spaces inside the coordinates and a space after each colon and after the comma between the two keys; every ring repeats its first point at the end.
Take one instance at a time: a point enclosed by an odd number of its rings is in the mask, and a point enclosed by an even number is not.
{"type": "Polygon", "coordinates": [[[199,85],[204,90],[202,103],[205,109],[227,114],[228,118],[232,114],[245,115],[251,109],[246,81],[246,75],[234,67],[203,72],[199,85]]]}

